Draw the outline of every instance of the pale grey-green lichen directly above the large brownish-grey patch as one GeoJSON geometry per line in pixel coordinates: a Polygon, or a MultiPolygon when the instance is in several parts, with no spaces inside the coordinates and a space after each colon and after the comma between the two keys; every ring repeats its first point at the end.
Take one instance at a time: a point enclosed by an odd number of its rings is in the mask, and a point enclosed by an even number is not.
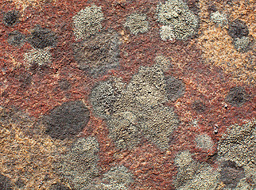
{"type": "Polygon", "coordinates": [[[81,9],[72,18],[76,40],[80,38],[86,39],[88,36],[99,32],[102,28],[101,21],[103,19],[103,12],[100,6],[92,5],[81,9]]]}

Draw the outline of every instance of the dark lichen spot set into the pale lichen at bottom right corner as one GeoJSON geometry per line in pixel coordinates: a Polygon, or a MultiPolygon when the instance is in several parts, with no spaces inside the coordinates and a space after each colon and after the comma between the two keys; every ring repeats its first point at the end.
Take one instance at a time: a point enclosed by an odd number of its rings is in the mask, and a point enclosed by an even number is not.
{"type": "Polygon", "coordinates": [[[220,181],[227,188],[235,188],[243,177],[245,177],[245,173],[242,167],[236,165],[234,161],[223,161],[220,170],[220,181]]]}

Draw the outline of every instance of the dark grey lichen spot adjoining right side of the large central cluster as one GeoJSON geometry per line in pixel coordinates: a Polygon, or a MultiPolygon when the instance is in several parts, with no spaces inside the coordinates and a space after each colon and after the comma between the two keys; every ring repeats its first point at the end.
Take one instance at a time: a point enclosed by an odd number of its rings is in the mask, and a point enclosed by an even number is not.
{"type": "Polygon", "coordinates": [[[182,97],[185,93],[185,85],[179,79],[171,76],[165,78],[166,82],[166,93],[170,101],[176,101],[179,97],[182,97]]]}

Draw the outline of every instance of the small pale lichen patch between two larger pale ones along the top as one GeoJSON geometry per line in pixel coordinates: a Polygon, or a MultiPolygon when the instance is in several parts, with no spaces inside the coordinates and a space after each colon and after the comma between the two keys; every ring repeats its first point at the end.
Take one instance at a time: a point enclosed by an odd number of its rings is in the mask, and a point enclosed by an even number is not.
{"type": "Polygon", "coordinates": [[[125,26],[130,29],[134,35],[137,35],[139,32],[144,33],[149,29],[149,21],[147,17],[141,13],[133,13],[126,19],[125,26]]]}

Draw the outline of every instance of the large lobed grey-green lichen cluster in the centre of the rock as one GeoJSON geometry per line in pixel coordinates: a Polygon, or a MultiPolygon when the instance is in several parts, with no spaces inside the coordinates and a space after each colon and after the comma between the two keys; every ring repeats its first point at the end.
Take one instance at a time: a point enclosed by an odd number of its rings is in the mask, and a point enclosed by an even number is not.
{"type": "Polygon", "coordinates": [[[92,89],[94,111],[107,120],[110,137],[118,148],[132,149],[144,136],[161,150],[168,149],[169,136],[180,121],[173,108],[163,105],[168,98],[161,68],[161,64],[141,67],[127,86],[108,80],[92,89]]]}

